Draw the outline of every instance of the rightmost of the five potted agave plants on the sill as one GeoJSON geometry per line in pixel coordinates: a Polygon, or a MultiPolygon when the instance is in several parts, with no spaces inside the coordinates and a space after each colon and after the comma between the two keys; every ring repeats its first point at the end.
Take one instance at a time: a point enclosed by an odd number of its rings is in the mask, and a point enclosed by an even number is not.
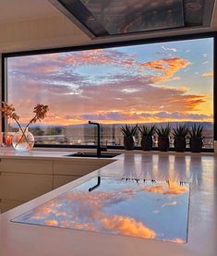
{"type": "Polygon", "coordinates": [[[193,125],[192,128],[189,129],[190,135],[190,150],[191,152],[201,152],[203,145],[203,127],[193,125]]]}

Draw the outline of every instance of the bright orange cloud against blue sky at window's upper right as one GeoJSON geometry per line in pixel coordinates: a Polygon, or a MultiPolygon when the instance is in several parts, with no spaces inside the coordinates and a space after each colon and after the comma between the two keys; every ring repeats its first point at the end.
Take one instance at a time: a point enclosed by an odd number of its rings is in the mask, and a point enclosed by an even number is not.
{"type": "Polygon", "coordinates": [[[182,58],[163,58],[151,62],[141,63],[140,67],[148,67],[153,71],[160,71],[159,76],[153,76],[153,82],[162,82],[171,79],[181,68],[190,65],[190,62],[182,58]]]}

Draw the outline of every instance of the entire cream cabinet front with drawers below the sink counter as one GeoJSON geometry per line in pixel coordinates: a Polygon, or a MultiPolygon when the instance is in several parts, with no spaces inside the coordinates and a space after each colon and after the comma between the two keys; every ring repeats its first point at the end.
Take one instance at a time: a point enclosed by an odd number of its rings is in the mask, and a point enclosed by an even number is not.
{"type": "Polygon", "coordinates": [[[0,159],[0,212],[114,162],[111,159],[0,159]]]}

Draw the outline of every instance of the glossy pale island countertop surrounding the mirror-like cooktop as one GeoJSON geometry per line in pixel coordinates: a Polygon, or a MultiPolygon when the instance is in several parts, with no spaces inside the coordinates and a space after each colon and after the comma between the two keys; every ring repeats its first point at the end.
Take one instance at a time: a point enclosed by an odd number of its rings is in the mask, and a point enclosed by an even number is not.
{"type": "MultiPolygon", "coordinates": [[[[60,157],[60,156],[59,156],[60,157]]],[[[123,153],[115,162],[0,216],[0,255],[201,255],[217,251],[217,157],[214,154],[123,153]],[[188,240],[177,244],[11,222],[94,177],[190,182],[188,240]]],[[[178,220],[177,220],[178,221],[178,220]]]]}

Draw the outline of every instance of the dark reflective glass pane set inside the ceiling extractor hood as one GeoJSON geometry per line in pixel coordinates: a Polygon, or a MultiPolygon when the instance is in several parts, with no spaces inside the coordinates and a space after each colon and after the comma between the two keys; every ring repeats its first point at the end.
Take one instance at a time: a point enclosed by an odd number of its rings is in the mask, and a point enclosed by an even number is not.
{"type": "Polygon", "coordinates": [[[81,0],[110,35],[184,27],[183,1],[81,0]]]}

